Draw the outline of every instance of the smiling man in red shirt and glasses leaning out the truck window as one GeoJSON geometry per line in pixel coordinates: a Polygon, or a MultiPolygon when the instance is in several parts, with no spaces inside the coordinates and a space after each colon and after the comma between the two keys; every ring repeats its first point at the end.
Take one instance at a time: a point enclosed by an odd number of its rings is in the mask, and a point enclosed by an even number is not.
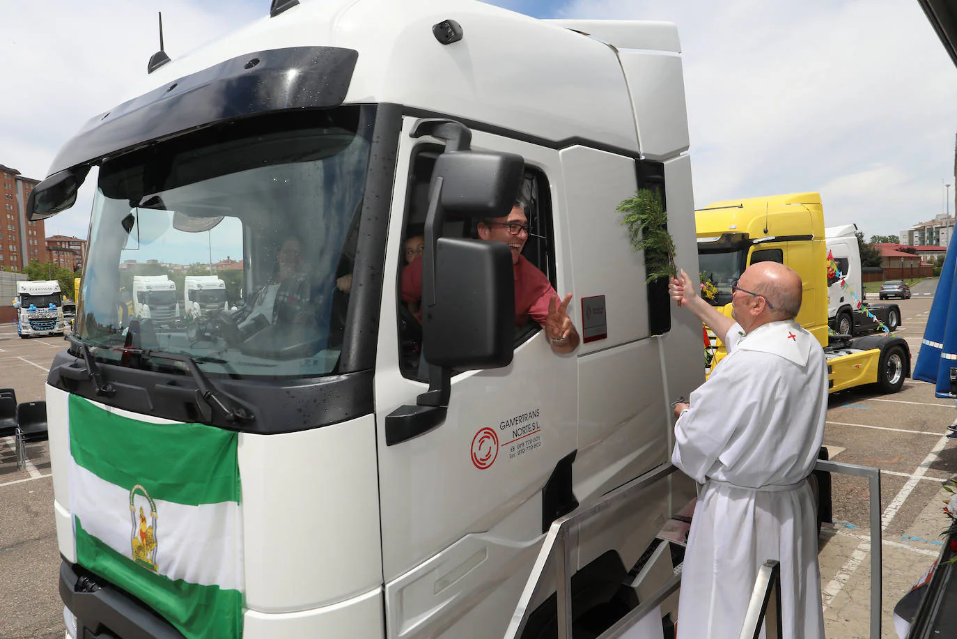
{"type": "MultiPolygon", "coordinates": [[[[477,233],[480,240],[501,241],[512,253],[515,277],[515,325],[522,327],[529,318],[545,329],[548,344],[555,353],[571,353],[580,338],[568,317],[571,293],[560,299],[545,273],[522,255],[528,240],[528,204],[520,197],[505,217],[483,219],[477,233]]],[[[402,271],[402,299],[406,304],[418,304],[422,299],[422,259],[416,257],[402,271]]],[[[419,316],[420,317],[420,316],[419,316]]]]}

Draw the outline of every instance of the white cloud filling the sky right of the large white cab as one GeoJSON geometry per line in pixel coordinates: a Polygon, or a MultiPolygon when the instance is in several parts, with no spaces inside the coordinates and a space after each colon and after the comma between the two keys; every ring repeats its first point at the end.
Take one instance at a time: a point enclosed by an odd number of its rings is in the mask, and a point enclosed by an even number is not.
{"type": "Polygon", "coordinates": [[[957,69],[917,2],[578,0],[559,12],[678,25],[697,206],[819,191],[829,225],[868,237],[943,211],[957,69]]]}

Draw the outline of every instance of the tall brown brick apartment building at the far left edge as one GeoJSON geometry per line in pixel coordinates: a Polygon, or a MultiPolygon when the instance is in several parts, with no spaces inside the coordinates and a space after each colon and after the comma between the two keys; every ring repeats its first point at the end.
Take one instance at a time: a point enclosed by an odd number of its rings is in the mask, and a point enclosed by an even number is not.
{"type": "Polygon", "coordinates": [[[0,268],[21,271],[32,260],[47,259],[43,220],[27,220],[27,198],[38,180],[0,164],[0,268]]]}

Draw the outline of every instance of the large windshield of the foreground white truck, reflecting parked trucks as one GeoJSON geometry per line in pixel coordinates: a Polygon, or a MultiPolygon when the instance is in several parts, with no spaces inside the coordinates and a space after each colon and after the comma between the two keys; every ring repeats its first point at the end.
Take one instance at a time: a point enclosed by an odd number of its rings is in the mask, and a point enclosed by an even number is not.
{"type": "Polygon", "coordinates": [[[232,377],[333,373],[348,323],[336,280],[355,253],[374,115],[259,116],[105,160],[78,338],[124,366],[169,367],[123,356],[133,349],[232,377]],[[189,275],[226,288],[185,299],[189,275]],[[188,312],[187,299],[219,308],[188,312]]]}

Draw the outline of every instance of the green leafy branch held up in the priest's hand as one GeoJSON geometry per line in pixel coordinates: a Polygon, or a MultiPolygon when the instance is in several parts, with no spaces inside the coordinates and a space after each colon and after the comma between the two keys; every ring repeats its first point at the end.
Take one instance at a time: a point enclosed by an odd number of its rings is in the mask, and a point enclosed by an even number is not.
{"type": "Polygon", "coordinates": [[[645,254],[646,284],[676,277],[675,240],[668,233],[668,216],[661,195],[651,189],[640,189],[622,200],[617,212],[622,215],[621,223],[628,227],[632,248],[645,254]]]}

